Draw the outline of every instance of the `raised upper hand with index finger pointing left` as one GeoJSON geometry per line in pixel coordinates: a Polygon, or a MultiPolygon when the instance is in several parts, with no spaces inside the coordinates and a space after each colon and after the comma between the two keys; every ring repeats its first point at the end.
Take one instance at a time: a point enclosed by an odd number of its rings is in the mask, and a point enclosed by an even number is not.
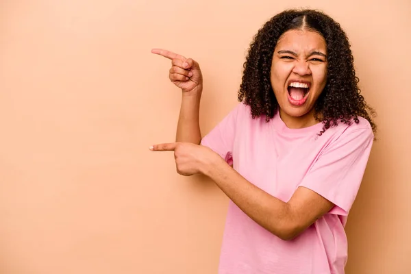
{"type": "Polygon", "coordinates": [[[183,92],[195,92],[199,86],[203,85],[203,75],[199,64],[195,60],[187,59],[165,49],[152,49],[151,53],[162,55],[171,60],[169,78],[183,92]]]}

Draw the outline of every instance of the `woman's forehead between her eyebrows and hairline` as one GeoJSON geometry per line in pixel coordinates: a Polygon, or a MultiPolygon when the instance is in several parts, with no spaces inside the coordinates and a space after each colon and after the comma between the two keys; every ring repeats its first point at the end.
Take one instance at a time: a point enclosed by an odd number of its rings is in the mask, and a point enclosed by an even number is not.
{"type": "Polygon", "coordinates": [[[279,37],[275,49],[292,51],[326,51],[327,45],[321,34],[306,29],[292,29],[279,37]]]}

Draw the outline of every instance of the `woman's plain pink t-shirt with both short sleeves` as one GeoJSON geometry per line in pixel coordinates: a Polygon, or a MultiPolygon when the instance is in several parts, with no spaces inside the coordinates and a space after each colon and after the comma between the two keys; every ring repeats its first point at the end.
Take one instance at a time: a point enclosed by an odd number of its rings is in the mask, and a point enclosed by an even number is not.
{"type": "MultiPolygon", "coordinates": [[[[373,144],[366,119],[317,134],[318,123],[286,127],[279,115],[252,119],[239,103],[201,141],[245,179],[288,201],[299,186],[336,206],[293,240],[282,240],[229,201],[220,274],[343,274],[347,262],[345,223],[356,198],[373,144]]],[[[235,184],[235,182],[234,182],[235,184]]]]}

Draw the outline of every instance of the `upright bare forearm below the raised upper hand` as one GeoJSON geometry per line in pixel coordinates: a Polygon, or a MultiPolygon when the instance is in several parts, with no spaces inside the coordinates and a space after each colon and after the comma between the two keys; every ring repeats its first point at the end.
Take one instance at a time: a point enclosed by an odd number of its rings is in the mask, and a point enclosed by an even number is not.
{"type": "Polygon", "coordinates": [[[199,125],[199,110],[202,86],[182,96],[182,105],[177,124],[176,142],[191,142],[199,145],[201,130],[199,125]]]}

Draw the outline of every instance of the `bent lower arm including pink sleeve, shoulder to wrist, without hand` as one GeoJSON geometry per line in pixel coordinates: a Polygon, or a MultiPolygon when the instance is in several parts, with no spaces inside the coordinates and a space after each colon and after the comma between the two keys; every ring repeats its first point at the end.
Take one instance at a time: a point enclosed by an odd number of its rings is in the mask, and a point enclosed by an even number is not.
{"type": "Polygon", "coordinates": [[[360,188],[372,144],[371,127],[347,129],[327,147],[288,202],[254,186],[221,159],[201,164],[201,172],[212,178],[256,223],[289,240],[327,212],[348,214],[360,188]]]}

